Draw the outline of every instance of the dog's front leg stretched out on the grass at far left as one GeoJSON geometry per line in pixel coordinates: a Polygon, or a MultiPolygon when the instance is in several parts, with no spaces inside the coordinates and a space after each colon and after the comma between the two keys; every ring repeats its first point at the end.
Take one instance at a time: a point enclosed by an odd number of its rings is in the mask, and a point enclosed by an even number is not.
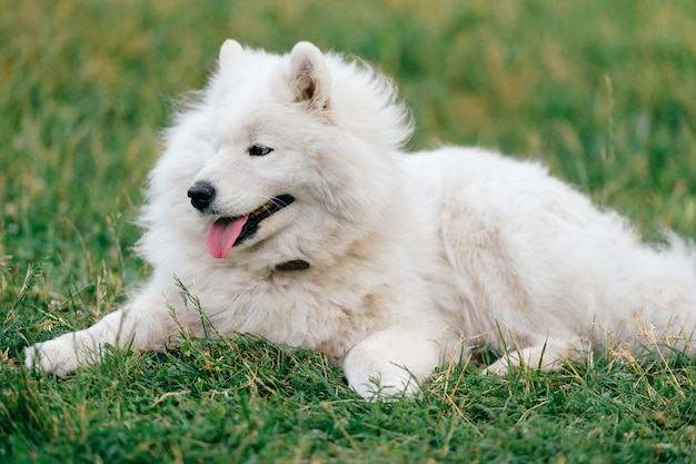
{"type": "Polygon", "coordinates": [[[93,326],[38,343],[24,349],[24,364],[58,376],[101,361],[106,345],[117,349],[161,347],[176,333],[162,289],[151,285],[122,308],[93,326]]]}

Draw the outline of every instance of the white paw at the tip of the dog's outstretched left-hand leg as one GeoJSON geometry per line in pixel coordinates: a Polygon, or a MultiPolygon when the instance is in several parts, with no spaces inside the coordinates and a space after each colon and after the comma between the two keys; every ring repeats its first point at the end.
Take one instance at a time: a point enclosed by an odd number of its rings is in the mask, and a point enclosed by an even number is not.
{"type": "Polygon", "coordinates": [[[64,377],[80,364],[91,364],[91,357],[83,346],[76,343],[72,334],[38,343],[24,349],[24,365],[28,369],[53,373],[64,377]]]}

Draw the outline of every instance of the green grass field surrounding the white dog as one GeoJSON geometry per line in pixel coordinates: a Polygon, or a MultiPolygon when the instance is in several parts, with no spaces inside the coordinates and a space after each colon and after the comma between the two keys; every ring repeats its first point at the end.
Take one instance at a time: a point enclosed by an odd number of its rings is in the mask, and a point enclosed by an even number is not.
{"type": "Polygon", "coordinates": [[[547,162],[650,237],[696,237],[696,3],[7,0],[0,12],[0,462],[694,462],[696,364],[448,366],[365,403],[321,354],[251,336],[116,353],[68,379],[21,349],[148,275],[130,250],[172,99],[227,37],[309,39],[399,82],[439,142],[547,162]]]}

